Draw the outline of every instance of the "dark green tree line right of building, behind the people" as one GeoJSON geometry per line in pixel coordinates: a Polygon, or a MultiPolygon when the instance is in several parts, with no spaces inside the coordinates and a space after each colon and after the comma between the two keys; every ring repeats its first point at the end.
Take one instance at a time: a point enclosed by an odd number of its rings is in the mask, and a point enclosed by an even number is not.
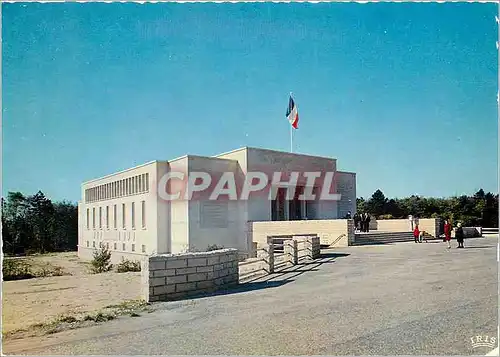
{"type": "Polygon", "coordinates": [[[461,222],[464,226],[498,227],[498,194],[485,193],[480,189],[472,196],[449,198],[411,196],[407,198],[385,197],[377,190],[369,199],[356,199],[358,212],[367,212],[377,219],[441,218],[461,222]]]}

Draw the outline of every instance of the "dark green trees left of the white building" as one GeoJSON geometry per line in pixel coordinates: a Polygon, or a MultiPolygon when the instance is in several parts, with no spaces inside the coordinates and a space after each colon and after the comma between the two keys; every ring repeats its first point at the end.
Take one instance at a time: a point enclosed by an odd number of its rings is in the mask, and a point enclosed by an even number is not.
{"type": "Polygon", "coordinates": [[[78,206],[52,202],[39,191],[2,197],[2,240],[5,254],[74,251],[78,244],[78,206]]]}

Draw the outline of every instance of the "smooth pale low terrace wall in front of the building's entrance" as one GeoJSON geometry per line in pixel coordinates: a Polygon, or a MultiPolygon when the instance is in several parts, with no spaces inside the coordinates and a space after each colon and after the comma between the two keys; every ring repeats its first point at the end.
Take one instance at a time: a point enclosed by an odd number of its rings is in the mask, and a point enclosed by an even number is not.
{"type": "Polygon", "coordinates": [[[321,244],[347,247],[354,240],[352,220],[307,220],[250,222],[249,237],[258,247],[267,244],[267,237],[273,235],[317,234],[321,244]]]}

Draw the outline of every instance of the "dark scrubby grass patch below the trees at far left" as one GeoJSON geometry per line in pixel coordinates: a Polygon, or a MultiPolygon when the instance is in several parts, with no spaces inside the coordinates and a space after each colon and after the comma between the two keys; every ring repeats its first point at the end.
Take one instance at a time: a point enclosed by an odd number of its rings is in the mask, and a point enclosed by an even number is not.
{"type": "Polygon", "coordinates": [[[36,266],[26,258],[4,259],[2,273],[4,281],[71,275],[60,266],[50,263],[36,266]]]}

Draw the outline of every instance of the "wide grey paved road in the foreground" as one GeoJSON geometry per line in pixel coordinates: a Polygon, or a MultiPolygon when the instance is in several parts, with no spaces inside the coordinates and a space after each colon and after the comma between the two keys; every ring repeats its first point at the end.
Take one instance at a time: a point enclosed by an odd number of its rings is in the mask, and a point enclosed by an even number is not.
{"type": "Polygon", "coordinates": [[[325,251],[246,291],[10,342],[17,354],[485,355],[497,336],[497,237],[325,251]]]}

